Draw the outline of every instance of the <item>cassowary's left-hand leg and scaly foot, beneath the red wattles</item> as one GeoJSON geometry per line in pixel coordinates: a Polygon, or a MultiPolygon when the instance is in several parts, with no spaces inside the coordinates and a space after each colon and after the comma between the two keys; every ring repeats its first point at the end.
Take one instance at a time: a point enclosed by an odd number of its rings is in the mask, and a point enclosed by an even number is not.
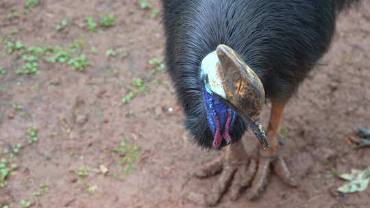
{"type": "Polygon", "coordinates": [[[212,190],[201,196],[204,199],[200,201],[208,206],[216,205],[228,189],[232,199],[236,199],[240,190],[250,185],[255,171],[256,161],[249,160],[241,140],[227,146],[224,155],[204,164],[195,172],[195,176],[199,178],[210,177],[221,172],[221,176],[213,185],[212,190]]]}

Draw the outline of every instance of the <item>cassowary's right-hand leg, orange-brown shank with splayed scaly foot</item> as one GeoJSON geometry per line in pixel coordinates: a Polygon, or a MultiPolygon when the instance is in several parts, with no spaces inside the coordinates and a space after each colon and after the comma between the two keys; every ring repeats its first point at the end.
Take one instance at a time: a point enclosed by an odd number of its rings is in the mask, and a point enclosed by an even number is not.
{"type": "Polygon", "coordinates": [[[251,190],[249,192],[249,198],[251,200],[258,198],[264,186],[267,184],[267,178],[270,174],[270,165],[273,166],[273,171],[284,183],[291,187],[297,186],[297,183],[291,177],[291,172],[288,170],[284,158],[280,155],[281,146],[277,140],[277,130],[282,120],[285,105],[286,101],[272,102],[269,127],[267,129],[269,148],[267,148],[267,150],[260,148],[258,151],[258,170],[252,181],[251,190]]]}

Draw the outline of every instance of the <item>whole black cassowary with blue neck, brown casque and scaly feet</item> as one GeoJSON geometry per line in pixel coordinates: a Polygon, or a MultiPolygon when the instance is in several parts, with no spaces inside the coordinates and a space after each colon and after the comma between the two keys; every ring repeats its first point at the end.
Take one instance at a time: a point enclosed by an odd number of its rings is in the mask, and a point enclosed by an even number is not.
{"type": "Polygon", "coordinates": [[[338,14],[356,1],[162,0],[166,61],[186,128],[199,146],[230,144],[196,172],[208,177],[222,170],[205,196],[208,205],[230,184],[234,199],[250,181],[249,198],[258,197],[270,166],[296,185],[277,141],[283,110],[330,47],[338,14]],[[267,133],[259,118],[265,98],[272,103],[267,133]],[[258,161],[241,143],[247,129],[262,144],[258,161]]]}

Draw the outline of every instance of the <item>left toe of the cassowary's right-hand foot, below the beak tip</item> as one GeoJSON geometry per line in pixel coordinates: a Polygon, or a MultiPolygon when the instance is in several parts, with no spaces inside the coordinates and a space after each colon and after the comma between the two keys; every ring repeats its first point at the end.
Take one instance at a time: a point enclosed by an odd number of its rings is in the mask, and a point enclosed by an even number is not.
{"type": "Polygon", "coordinates": [[[255,200],[258,198],[260,193],[263,191],[270,174],[271,161],[271,157],[260,157],[258,162],[258,170],[254,176],[254,180],[252,181],[251,192],[249,194],[250,200],[255,200]]]}

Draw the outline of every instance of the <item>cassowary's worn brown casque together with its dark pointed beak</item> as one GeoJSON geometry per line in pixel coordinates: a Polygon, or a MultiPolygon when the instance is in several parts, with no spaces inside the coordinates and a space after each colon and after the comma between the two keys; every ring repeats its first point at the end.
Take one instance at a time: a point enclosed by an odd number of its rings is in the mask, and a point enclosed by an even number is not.
{"type": "Polygon", "coordinates": [[[264,88],[260,78],[236,52],[224,44],[217,47],[217,73],[225,90],[226,100],[251,124],[251,129],[264,148],[267,137],[260,121],[264,105],[264,88]]]}

